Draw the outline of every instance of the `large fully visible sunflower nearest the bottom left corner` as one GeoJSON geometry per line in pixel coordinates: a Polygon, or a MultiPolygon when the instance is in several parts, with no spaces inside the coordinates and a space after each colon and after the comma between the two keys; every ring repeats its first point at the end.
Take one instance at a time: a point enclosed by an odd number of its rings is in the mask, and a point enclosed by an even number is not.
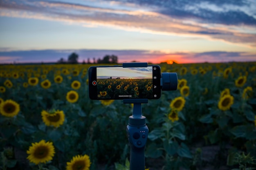
{"type": "Polygon", "coordinates": [[[29,156],[27,159],[37,165],[38,163],[51,161],[52,157],[54,157],[54,153],[55,151],[52,142],[41,140],[40,142],[32,143],[32,146],[29,146],[29,150],[27,150],[29,156]]]}

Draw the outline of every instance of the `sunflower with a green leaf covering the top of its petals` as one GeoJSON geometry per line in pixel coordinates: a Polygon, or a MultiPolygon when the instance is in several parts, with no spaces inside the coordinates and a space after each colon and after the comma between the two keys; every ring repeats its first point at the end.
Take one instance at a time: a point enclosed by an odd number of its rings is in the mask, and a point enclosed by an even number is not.
{"type": "Polygon", "coordinates": [[[46,126],[54,126],[55,128],[62,125],[65,120],[65,115],[63,111],[60,110],[53,113],[48,113],[47,111],[43,110],[41,112],[41,116],[46,126]]]}

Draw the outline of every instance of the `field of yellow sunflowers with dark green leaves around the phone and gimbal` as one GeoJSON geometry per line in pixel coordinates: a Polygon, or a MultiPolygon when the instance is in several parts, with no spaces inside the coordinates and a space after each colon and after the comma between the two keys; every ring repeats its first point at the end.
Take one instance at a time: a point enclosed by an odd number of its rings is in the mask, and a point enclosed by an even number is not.
{"type": "MultiPolygon", "coordinates": [[[[0,66],[0,169],[129,169],[126,126],[133,106],[90,100],[92,65],[0,66]]],[[[159,66],[177,73],[178,86],[142,104],[146,169],[255,169],[256,62],[159,66]]],[[[143,93],[132,81],[120,88],[102,83],[108,86],[101,95],[143,93]]],[[[144,82],[145,92],[150,83],[144,82]]]]}

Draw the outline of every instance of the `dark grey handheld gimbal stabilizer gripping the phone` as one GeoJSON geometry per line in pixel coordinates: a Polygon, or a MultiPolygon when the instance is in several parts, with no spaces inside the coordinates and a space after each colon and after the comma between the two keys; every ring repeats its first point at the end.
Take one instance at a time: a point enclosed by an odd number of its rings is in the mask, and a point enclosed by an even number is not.
{"type": "MultiPolygon", "coordinates": [[[[123,67],[147,67],[148,63],[123,63],[123,67]]],[[[178,78],[176,73],[162,73],[162,91],[177,90],[178,78]]],[[[130,144],[130,170],[145,170],[144,150],[148,138],[146,117],[142,116],[141,103],[148,103],[148,99],[124,99],[124,104],[134,104],[132,116],[126,127],[130,144]]]]}

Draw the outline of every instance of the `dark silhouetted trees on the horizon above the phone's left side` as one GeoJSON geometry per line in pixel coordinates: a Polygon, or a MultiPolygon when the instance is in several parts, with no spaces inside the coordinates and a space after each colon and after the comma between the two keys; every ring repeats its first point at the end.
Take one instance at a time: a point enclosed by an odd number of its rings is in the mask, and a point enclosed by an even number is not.
{"type": "MultiPolygon", "coordinates": [[[[60,60],[57,61],[57,63],[70,63],[70,64],[76,64],[79,63],[78,62],[78,58],[79,55],[76,53],[72,53],[67,57],[67,60],[65,60],[64,58],[61,58],[60,60]]],[[[95,59],[93,58],[93,61],[90,61],[90,58],[87,59],[87,62],[85,62],[85,60],[83,60],[83,64],[115,64],[118,62],[118,57],[116,55],[105,55],[102,59],[95,59]]]]}

